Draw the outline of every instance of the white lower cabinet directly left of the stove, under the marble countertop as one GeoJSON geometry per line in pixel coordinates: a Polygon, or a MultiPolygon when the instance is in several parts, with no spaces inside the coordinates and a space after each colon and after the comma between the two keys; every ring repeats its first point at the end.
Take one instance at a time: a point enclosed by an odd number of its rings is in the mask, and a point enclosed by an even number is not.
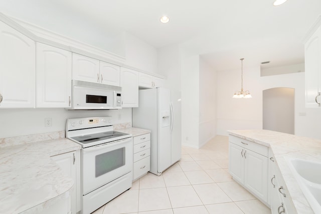
{"type": "Polygon", "coordinates": [[[80,185],[80,150],[67,152],[51,157],[62,169],[62,171],[74,180],[71,191],[71,213],[81,210],[81,185],[80,185]]]}

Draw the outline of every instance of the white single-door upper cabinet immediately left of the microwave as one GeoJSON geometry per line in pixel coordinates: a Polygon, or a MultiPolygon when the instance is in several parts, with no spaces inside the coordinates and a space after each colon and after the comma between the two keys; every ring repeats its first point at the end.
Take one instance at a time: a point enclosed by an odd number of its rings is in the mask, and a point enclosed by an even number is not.
{"type": "Polygon", "coordinates": [[[36,59],[36,107],[69,107],[71,52],[37,43],[36,59]]]}

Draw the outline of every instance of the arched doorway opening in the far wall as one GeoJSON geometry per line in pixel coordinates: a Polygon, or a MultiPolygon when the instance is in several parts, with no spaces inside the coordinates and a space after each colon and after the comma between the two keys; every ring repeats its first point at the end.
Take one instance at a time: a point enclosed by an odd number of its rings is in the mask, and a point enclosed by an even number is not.
{"type": "Polygon", "coordinates": [[[263,129],[294,134],[294,88],[263,91],[263,129]]]}

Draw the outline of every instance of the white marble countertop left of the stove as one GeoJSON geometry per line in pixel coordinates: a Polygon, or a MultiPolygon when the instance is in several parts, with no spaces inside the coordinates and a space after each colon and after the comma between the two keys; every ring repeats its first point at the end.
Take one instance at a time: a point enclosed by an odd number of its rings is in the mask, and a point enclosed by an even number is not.
{"type": "Polygon", "coordinates": [[[79,144],[66,138],[18,144],[0,148],[0,213],[34,213],[73,187],[50,156],[81,149],[79,144]]]}

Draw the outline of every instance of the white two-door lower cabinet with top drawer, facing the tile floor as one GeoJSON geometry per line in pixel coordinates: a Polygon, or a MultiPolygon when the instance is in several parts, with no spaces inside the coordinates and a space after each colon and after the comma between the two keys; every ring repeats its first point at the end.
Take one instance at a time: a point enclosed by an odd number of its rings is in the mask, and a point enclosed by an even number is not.
{"type": "Polygon", "coordinates": [[[263,203],[268,204],[268,148],[229,136],[229,172],[263,203]]]}

